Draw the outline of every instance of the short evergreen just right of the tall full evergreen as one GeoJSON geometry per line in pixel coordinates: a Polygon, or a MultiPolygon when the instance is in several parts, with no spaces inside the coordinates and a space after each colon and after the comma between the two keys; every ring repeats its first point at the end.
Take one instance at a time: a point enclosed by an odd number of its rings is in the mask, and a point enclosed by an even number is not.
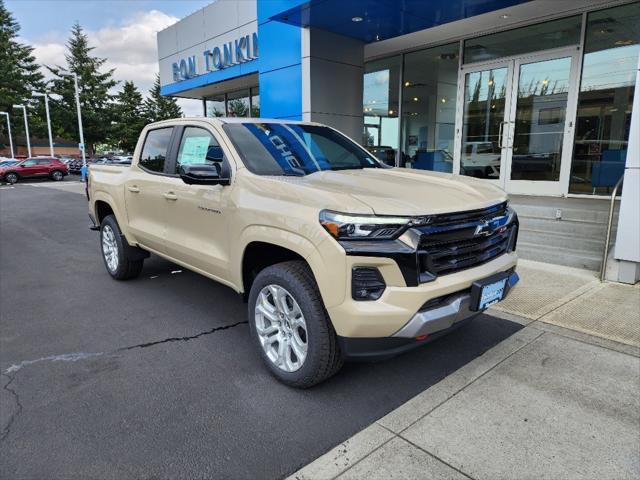
{"type": "Polygon", "coordinates": [[[117,145],[121,150],[133,153],[144,125],[142,94],[133,82],[126,81],[116,95],[113,105],[110,143],[117,145]]]}

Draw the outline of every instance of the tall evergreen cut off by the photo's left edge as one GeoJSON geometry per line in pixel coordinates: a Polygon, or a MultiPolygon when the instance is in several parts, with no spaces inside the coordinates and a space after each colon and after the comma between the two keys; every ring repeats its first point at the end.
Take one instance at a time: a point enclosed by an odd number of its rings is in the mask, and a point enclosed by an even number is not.
{"type": "MultiPolygon", "coordinates": [[[[0,0],[0,111],[12,115],[11,126],[14,135],[24,132],[22,112],[13,108],[15,104],[36,103],[31,100],[32,91],[43,91],[44,82],[38,64],[33,56],[33,48],[18,42],[20,25],[0,0]]],[[[31,125],[31,116],[30,127],[31,125]]],[[[4,131],[4,118],[0,130],[4,131]]],[[[39,130],[39,129],[36,129],[39,130]]],[[[30,132],[33,133],[37,132],[30,132]]],[[[3,137],[4,140],[4,137],[3,137]]],[[[8,139],[4,140],[8,143],[8,139]]]]}

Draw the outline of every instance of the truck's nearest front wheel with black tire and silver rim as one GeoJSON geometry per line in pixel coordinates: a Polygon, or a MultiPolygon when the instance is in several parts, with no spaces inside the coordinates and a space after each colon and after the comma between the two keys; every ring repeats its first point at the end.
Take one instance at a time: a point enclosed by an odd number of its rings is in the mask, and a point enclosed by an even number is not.
{"type": "Polygon", "coordinates": [[[283,262],[262,270],[251,286],[248,318],[262,360],[282,383],[309,388],[342,367],[336,333],[305,262],[283,262]],[[276,307],[276,295],[284,299],[285,307],[276,307]],[[282,314],[285,308],[289,313],[282,314]],[[298,358],[297,351],[304,358],[298,358]]]}

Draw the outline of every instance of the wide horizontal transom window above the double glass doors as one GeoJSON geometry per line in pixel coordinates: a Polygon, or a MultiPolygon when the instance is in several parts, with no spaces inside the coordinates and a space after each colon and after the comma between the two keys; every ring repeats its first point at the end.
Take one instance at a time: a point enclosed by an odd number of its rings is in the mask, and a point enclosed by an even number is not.
{"type": "Polygon", "coordinates": [[[578,45],[581,24],[582,17],[576,15],[466,40],[464,63],[578,45]]]}

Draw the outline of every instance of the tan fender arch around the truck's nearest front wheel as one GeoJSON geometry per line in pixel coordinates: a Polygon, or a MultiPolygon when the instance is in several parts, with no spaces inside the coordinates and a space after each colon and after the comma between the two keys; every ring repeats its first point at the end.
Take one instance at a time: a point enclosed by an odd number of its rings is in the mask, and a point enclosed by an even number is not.
{"type": "MultiPolygon", "coordinates": [[[[266,225],[250,225],[240,233],[238,242],[232,247],[233,283],[240,285],[244,291],[242,279],[242,262],[244,252],[251,242],[264,242],[283,247],[304,258],[315,277],[320,295],[326,307],[338,305],[345,296],[345,257],[340,255],[339,245],[335,244],[335,253],[330,248],[323,249],[320,255],[318,247],[297,233],[266,225]],[[326,250],[326,251],[325,251],[326,250]],[[329,264],[327,264],[327,262],[329,264]]],[[[323,242],[324,246],[327,242],[323,242]]]]}

